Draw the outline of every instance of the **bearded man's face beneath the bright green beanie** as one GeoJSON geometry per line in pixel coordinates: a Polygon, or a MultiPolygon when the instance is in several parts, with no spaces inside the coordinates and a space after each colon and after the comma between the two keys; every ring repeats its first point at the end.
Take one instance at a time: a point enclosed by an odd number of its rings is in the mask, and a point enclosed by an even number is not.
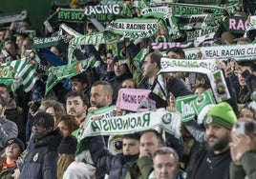
{"type": "Polygon", "coordinates": [[[217,124],[209,124],[206,126],[206,141],[208,149],[222,151],[230,142],[230,130],[217,124]]]}

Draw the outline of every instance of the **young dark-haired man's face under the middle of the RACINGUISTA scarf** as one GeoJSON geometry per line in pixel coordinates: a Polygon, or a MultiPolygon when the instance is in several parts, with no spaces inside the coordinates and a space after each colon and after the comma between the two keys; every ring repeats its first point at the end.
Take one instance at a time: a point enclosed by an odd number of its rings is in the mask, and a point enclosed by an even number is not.
{"type": "Polygon", "coordinates": [[[139,140],[122,139],[122,152],[124,155],[136,155],[139,153],[139,140]]]}

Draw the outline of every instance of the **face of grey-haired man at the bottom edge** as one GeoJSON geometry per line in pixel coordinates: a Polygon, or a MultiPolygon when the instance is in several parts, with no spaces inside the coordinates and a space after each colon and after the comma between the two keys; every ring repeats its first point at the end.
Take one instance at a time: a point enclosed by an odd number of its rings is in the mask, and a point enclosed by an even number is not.
{"type": "Polygon", "coordinates": [[[158,154],[154,158],[156,179],[175,179],[178,171],[178,161],[176,161],[173,154],[158,154]]]}

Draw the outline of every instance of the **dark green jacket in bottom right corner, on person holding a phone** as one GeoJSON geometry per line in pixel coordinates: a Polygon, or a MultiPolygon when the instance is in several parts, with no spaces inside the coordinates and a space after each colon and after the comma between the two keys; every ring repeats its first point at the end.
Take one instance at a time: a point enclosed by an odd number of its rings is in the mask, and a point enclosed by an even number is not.
{"type": "Polygon", "coordinates": [[[236,166],[233,162],[229,166],[229,174],[232,179],[256,179],[256,151],[247,151],[241,157],[242,166],[236,166]]]}

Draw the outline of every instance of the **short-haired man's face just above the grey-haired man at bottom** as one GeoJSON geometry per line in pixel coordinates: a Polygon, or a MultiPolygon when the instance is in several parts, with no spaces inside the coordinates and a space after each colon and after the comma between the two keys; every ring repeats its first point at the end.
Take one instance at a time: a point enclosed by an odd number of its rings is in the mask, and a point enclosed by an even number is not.
{"type": "Polygon", "coordinates": [[[152,156],[156,149],[160,148],[160,141],[154,132],[146,132],[140,136],[139,152],[147,153],[152,156]]]}

